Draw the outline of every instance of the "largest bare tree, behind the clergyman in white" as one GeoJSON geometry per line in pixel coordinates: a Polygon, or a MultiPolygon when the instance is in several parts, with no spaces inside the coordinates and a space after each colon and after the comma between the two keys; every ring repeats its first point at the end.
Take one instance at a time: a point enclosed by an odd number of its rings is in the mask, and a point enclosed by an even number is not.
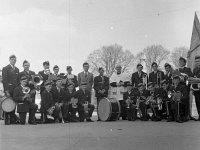
{"type": "Polygon", "coordinates": [[[105,73],[109,77],[113,74],[117,64],[122,66],[122,72],[128,72],[133,61],[134,55],[129,50],[123,50],[122,46],[118,44],[94,50],[87,58],[90,70],[94,74],[98,74],[99,67],[104,67],[105,73]]]}

